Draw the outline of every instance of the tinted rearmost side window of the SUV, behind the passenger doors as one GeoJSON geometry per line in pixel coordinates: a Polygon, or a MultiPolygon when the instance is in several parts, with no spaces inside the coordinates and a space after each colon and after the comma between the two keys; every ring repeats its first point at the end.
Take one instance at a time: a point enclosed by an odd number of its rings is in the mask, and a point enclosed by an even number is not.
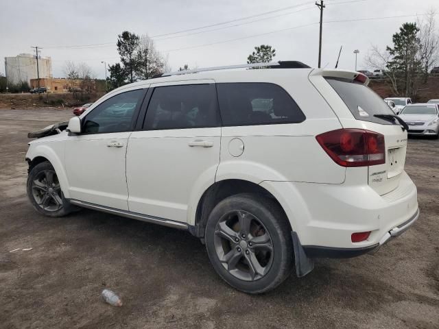
{"type": "Polygon", "coordinates": [[[276,84],[239,82],[217,84],[222,124],[272,125],[300,123],[305,115],[294,99],[276,84]]]}

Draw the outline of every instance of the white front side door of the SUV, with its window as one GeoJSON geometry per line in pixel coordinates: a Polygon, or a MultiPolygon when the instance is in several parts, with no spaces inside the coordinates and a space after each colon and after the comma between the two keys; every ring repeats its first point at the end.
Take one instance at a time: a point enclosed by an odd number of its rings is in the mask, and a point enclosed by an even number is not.
{"type": "Polygon", "coordinates": [[[126,150],[145,89],[119,93],[82,118],[67,138],[65,161],[72,199],[128,210],[126,150]]]}

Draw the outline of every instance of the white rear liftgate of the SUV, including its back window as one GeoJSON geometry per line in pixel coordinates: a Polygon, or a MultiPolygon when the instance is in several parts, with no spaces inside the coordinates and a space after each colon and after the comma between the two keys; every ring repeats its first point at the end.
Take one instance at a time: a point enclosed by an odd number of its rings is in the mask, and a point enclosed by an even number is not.
{"type": "Polygon", "coordinates": [[[333,95],[329,98],[344,128],[370,130],[384,136],[385,163],[368,167],[369,186],[379,195],[383,195],[399,185],[405,164],[407,131],[396,119],[375,117],[375,114],[394,115],[394,113],[381,97],[354,78],[355,73],[351,73],[350,76],[348,73],[340,76],[338,71],[328,72],[325,80],[340,99],[337,100],[338,97],[333,95]]]}

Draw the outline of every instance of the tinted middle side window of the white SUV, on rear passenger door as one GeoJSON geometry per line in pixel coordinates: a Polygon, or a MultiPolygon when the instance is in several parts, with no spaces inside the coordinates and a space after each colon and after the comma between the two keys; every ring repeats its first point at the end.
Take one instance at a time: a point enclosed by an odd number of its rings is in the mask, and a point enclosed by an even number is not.
{"type": "Polygon", "coordinates": [[[214,84],[154,88],[146,112],[145,130],[218,127],[214,84]]]}

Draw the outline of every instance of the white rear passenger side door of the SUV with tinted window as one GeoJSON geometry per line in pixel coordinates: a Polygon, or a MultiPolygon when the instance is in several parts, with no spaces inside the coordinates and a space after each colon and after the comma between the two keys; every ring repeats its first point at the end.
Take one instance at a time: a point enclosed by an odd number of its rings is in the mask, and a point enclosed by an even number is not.
{"type": "Polygon", "coordinates": [[[191,195],[215,182],[221,128],[213,80],[152,85],[127,152],[130,211],[187,221],[191,195]]]}

